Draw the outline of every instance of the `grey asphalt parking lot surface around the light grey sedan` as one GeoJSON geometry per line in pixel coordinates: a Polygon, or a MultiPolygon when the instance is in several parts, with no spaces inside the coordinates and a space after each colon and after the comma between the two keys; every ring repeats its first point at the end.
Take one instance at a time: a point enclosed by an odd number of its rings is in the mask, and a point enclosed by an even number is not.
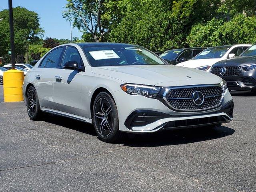
{"type": "Polygon", "coordinates": [[[0,191],[256,191],[256,95],[232,92],[234,122],[98,140],[90,124],[31,121],[0,86],[0,191]]]}

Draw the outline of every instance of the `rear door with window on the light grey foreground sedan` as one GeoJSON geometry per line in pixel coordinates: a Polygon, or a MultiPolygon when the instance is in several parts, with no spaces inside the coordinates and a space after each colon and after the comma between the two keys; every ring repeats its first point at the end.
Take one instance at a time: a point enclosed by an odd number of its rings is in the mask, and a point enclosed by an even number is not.
{"type": "Polygon", "coordinates": [[[54,109],[54,74],[60,64],[64,47],[52,50],[32,73],[36,84],[40,106],[54,109]]]}

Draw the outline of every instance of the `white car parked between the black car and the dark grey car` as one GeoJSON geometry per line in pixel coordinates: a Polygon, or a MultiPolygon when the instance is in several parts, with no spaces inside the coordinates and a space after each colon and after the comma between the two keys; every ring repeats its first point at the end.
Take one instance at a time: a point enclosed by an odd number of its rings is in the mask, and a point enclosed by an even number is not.
{"type": "Polygon", "coordinates": [[[238,44],[209,47],[191,60],[178,64],[178,66],[196,68],[209,72],[212,65],[216,62],[239,56],[250,46],[252,45],[238,44]]]}

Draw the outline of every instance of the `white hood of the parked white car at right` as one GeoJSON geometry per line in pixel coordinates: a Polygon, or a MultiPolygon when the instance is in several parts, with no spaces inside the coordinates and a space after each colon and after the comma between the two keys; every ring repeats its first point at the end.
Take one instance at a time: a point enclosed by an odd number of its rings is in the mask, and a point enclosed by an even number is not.
{"type": "Polygon", "coordinates": [[[213,64],[215,64],[218,61],[223,60],[222,58],[218,58],[218,59],[192,59],[192,60],[188,60],[182,63],[177,64],[176,66],[182,66],[182,67],[188,67],[188,68],[198,68],[198,67],[202,67],[202,66],[212,66],[213,64]]]}

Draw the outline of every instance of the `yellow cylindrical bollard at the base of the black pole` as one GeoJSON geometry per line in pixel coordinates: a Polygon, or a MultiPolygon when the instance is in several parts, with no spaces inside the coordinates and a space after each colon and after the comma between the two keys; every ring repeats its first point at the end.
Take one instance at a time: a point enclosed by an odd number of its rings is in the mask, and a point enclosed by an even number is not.
{"type": "Polygon", "coordinates": [[[12,69],[4,72],[4,102],[23,101],[23,71],[12,69]]]}

